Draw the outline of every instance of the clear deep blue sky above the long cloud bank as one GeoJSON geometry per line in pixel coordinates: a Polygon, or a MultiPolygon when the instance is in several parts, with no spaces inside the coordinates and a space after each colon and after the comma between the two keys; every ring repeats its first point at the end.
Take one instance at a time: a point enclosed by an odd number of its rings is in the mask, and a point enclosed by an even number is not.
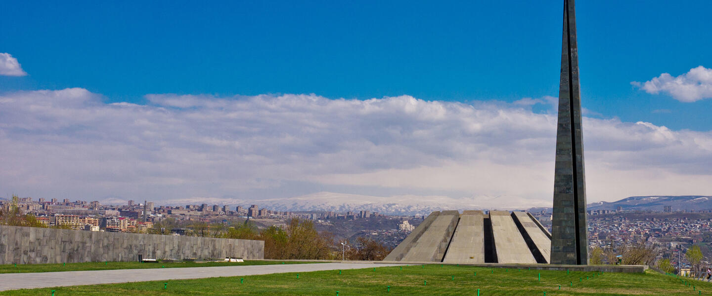
{"type": "MultiPolygon", "coordinates": [[[[11,1],[0,50],[29,73],[0,88],[145,94],[557,95],[558,1],[11,1]]],[[[709,130],[712,100],[629,82],[711,67],[709,1],[578,1],[583,105],[604,117],[709,130]],[[669,112],[653,112],[669,110],[669,112]]]]}

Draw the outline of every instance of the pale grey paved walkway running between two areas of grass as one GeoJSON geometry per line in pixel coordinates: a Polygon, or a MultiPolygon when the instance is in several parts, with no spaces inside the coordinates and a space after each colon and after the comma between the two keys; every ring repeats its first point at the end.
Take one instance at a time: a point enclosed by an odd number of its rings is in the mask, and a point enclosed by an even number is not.
{"type": "Polygon", "coordinates": [[[32,289],[38,287],[145,282],[149,280],[184,280],[189,278],[266,275],[269,273],[305,273],[319,270],[357,269],[398,265],[403,264],[313,263],[192,268],[85,270],[62,271],[57,273],[2,273],[0,274],[0,291],[32,289]]]}

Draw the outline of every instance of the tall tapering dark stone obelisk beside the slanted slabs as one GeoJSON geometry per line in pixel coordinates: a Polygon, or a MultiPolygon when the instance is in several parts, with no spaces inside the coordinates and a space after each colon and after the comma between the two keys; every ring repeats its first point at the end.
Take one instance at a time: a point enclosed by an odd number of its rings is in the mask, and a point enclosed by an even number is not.
{"type": "Polygon", "coordinates": [[[564,0],[562,43],[550,262],[586,265],[586,184],[574,0],[564,0]]]}

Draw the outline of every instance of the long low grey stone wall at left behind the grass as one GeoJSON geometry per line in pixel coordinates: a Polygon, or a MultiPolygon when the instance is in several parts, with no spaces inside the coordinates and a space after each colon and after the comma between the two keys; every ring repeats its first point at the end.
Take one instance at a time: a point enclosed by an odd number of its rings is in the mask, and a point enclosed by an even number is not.
{"type": "Polygon", "coordinates": [[[263,259],[264,241],[0,226],[0,264],[241,257],[263,259]]]}

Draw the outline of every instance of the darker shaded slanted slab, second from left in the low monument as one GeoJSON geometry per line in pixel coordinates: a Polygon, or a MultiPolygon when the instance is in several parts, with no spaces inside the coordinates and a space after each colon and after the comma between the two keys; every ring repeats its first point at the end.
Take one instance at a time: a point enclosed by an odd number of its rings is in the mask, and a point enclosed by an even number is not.
{"type": "Polygon", "coordinates": [[[460,213],[457,211],[441,212],[403,256],[402,261],[442,261],[459,218],[460,213]]]}

